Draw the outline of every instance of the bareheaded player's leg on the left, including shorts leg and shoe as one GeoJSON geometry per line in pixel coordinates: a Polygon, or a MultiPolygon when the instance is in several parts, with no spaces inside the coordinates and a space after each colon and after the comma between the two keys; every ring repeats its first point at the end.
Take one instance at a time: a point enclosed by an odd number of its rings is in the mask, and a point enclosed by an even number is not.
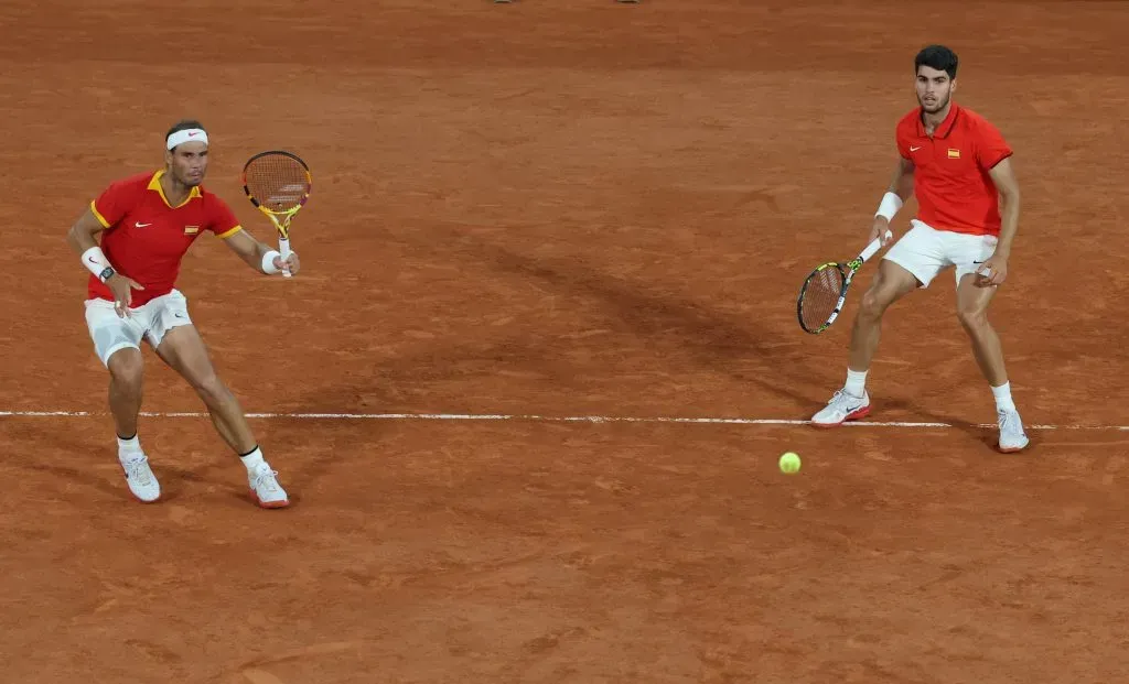
{"type": "Polygon", "coordinates": [[[859,300],[851,328],[847,382],[819,413],[812,416],[817,428],[832,428],[870,413],[866,377],[882,336],[882,318],[895,301],[918,288],[926,288],[947,265],[937,231],[916,223],[878,264],[870,288],[859,300]]]}

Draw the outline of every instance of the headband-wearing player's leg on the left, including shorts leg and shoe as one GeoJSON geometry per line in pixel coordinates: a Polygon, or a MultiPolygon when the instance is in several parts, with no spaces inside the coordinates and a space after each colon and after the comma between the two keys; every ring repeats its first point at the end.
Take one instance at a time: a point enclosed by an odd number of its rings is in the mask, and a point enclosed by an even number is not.
{"type": "Polygon", "coordinates": [[[113,302],[100,299],[86,302],[86,322],[95,353],[110,372],[110,412],[117,436],[119,463],[133,496],[151,503],[160,498],[160,483],[138,437],[145,378],[140,342],[147,322],[140,312],[121,318],[113,302]]]}

